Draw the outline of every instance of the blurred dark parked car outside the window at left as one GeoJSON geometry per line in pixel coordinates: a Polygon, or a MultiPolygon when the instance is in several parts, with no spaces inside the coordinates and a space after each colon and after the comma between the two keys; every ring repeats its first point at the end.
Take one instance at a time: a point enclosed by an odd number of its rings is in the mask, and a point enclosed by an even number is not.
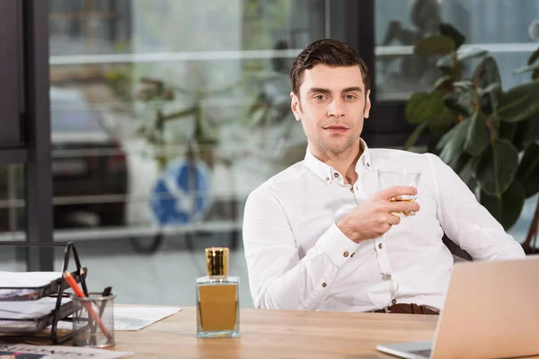
{"type": "Polygon", "coordinates": [[[128,191],[126,154],[84,92],[51,87],[55,228],[119,226],[128,191]]]}

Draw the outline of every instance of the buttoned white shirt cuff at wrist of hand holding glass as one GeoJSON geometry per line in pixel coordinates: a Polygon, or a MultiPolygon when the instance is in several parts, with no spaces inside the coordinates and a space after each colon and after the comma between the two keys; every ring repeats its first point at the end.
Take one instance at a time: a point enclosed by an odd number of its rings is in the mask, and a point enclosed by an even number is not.
{"type": "Polygon", "coordinates": [[[316,242],[316,246],[323,250],[335,266],[341,267],[349,258],[353,257],[359,244],[350,240],[340,231],[337,224],[333,223],[330,229],[323,233],[316,242]]]}

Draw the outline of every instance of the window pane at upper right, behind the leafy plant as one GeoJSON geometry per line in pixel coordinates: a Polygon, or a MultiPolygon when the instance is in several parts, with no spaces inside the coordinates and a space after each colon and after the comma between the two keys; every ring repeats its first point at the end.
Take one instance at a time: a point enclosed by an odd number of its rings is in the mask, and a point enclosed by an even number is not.
{"type": "MultiPolygon", "coordinates": [[[[538,13],[535,0],[376,0],[377,100],[402,101],[411,92],[432,89],[439,76],[437,59],[411,54],[413,45],[436,33],[440,22],[464,34],[463,49],[490,51],[498,61],[505,89],[526,82],[529,73],[513,75],[511,71],[525,66],[539,47],[538,39],[530,38],[538,26],[538,13]]],[[[470,62],[469,68],[473,65],[470,62]]]]}

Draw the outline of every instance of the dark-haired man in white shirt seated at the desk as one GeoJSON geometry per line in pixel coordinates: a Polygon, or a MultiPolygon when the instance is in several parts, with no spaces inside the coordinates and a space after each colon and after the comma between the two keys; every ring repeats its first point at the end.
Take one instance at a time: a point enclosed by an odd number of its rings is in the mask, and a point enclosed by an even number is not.
{"type": "Polygon", "coordinates": [[[474,259],[524,251],[431,153],[369,149],[367,66],[349,46],[314,41],[291,70],[305,160],[252,191],[243,243],[256,308],[434,314],[454,264],[444,232],[474,259]],[[380,190],[377,170],[421,171],[416,188],[380,190]],[[415,203],[392,202],[416,195],[415,203]],[[411,211],[415,215],[393,215],[411,211]]]}

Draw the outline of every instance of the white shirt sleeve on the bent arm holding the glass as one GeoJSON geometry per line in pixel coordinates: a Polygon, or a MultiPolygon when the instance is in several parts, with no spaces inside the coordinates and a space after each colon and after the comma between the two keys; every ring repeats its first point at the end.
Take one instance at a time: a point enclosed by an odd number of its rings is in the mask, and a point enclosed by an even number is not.
{"type": "Polygon", "coordinates": [[[256,189],[243,215],[243,246],[255,308],[316,310],[358,244],[335,223],[300,259],[278,199],[256,189]]]}

